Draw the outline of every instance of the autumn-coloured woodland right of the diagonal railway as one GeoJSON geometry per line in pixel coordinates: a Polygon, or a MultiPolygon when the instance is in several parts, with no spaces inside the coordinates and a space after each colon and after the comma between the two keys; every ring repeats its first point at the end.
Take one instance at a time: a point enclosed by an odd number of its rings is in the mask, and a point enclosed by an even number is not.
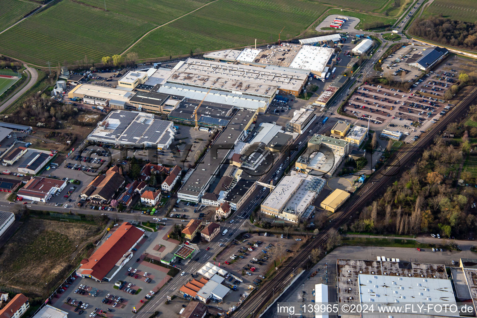
{"type": "MultiPolygon", "coordinates": [[[[475,109],[475,106],[472,106],[475,109]]],[[[470,127],[468,127],[470,128],[470,127]]],[[[345,230],[415,235],[440,233],[443,237],[467,237],[475,231],[477,218],[469,209],[476,190],[465,187],[475,182],[462,169],[467,155],[472,155],[467,127],[449,124],[447,131],[461,136],[458,142],[436,137],[414,167],[390,185],[384,195],[365,207],[345,230]]],[[[477,136],[477,129],[470,129],[477,136]]]]}

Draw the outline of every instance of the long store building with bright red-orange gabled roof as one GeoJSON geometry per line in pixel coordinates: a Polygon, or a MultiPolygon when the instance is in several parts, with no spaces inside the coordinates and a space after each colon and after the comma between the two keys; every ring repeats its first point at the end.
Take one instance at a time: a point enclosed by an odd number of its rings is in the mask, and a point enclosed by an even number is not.
{"type": "Polygon", "coordinates": [[[81,277],[111,281],[133,257],[131,249],[145,236],[144,230],[124,222],[93,255],[81,261],[76,271],[81,277]]]}

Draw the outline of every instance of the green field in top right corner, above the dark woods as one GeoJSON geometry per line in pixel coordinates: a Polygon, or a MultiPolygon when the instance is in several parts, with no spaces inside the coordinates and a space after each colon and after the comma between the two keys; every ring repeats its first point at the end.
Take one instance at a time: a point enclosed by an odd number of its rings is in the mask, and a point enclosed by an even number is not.
{"type": "Polygon", "coordinates": [[[475,22],[477,21],[477,1],[475,0],[434,0],[425,9],[425,15],[442,14],[445,18],[475,22]]]}

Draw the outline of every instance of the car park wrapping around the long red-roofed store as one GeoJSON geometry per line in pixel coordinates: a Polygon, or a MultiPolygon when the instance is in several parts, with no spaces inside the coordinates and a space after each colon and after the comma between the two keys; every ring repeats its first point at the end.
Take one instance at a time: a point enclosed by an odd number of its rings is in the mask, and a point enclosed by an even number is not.
{"type": "Polygon", "coordinates": [[[74,314],[79,314],[80,310],[83,309],[81,315],[84,315],[84,317],[88,317],[91,313],[100,315],[101,310],[107,314],[105,315],[107,317],[130,315],[133,306],[136,308],[143,306],[147,302],[147,298],[152,297],[170,278],[166,275],[167,268],[137,258],[141,258],[141,254],[145,250],[145,247],[143,247],[145,243],[146,239],[143,239],[136,246],[135,256],[116,274],[112,282],[100,283],[90,278],[78,276],[72,284],[68,285],[65,292],[59,294],[60,298],[54,298],[56,303],[62,304],[53,306],[74,314]],[[129,276],[129,273],[132,276],[129,276]],[[146,278],[148,282],[145,282],[146,278]],[[124,286],[119,289],[115,286],[116,281],[124,282],[124,286]],[[95,296],[91,293],[93,288],[97,288],[95,296]],[[69,300],[67,301],[68,297],[69,300]],[[75,301],[74,304],[72,304],[73,300],[75,301]],[[87,304],[87,307],[75,310],[80,301],[87,304]]]}

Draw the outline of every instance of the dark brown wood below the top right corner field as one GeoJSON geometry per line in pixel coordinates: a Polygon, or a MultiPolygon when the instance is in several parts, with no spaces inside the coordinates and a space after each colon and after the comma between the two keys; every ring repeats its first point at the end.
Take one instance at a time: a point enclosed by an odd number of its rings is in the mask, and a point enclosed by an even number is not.
{"type": "Polygon", "coordinates": [[[477,50],[477,25],[441,16],[418,18],[408,30],[415,36],[454,47],[477,50]]]}

